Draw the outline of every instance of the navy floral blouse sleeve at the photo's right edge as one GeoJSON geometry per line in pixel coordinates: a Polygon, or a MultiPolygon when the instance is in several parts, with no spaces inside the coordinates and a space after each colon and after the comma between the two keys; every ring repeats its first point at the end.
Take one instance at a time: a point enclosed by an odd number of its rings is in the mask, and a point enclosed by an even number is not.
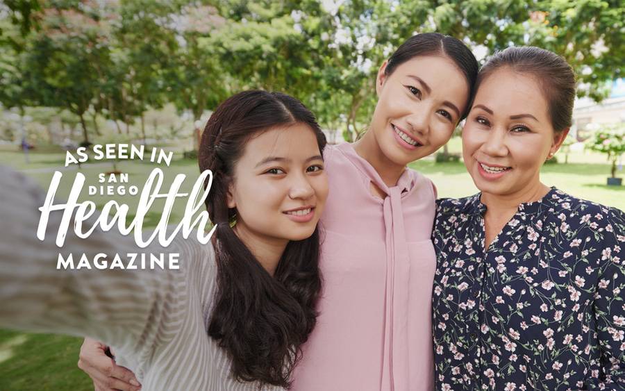
{"type": "Polygon", "coordinates": [[[589,389],[625,391],[625,219],[610,209],[598,252],[599,281],[594,301],[597,340],[601,349],[599,376],[589,378],[589,389]]]}

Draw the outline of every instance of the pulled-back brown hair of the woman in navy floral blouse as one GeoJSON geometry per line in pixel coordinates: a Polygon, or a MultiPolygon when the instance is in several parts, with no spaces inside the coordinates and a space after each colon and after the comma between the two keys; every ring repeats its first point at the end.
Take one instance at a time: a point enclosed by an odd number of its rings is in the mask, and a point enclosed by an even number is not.
{"type": "Polygon", "coordinates": [[[547,101],[547,113],[553,131],[561,132],[571,126],[575,101],[575,73],[564,58],[540,47],[509,47],[495,53],[483,65],[478,74],[476,89],[488,76],[503,67],[532,76],[540,84],[547,101]]]}

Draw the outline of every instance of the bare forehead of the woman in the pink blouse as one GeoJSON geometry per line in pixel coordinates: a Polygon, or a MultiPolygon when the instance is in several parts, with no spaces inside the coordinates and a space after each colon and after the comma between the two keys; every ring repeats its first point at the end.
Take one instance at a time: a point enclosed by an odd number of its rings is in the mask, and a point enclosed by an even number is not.
{"type": "Polygon", "coordinates": [[[432,89],[432,94],[444,100],[452,101],[462,108],[468,94],[467,78],[456,63],[446,56],[417,56],[401,63],[390,77],[401,78],[417,76],[432,89]]]}

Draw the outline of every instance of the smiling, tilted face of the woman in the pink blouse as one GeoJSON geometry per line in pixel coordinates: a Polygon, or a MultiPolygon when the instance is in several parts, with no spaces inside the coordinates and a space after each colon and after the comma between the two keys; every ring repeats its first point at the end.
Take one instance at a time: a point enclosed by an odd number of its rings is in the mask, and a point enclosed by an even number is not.
{"type": "Polygon", "coordinates": [[[449,58],[419,56],[378,72],[371,128],[383,155],[405,166],[445,144],[469,99],[467,81],[449,58]]]}

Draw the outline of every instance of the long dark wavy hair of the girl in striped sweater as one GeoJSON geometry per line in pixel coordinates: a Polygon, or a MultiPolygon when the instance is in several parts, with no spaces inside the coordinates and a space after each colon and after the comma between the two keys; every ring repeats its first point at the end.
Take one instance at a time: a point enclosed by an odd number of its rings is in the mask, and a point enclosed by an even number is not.
{"type": "Polygon", "coordinates": [[[217,225],[217,292],[208,334],[231,358],[234,378],[260,385],[290,385],[301,344],[315,326],[322,285],[319,228],[287,244],[272,277],[231,228],[236,210],[228,208],[226,193],[253,135],[276,126],[289,131],[297,123],[310,127],[323,152],[324,133],[300,101],[278,92],[240,92],[208,119],[199,147],[200,169],[213,171],[206,207],[217,225]]]}

